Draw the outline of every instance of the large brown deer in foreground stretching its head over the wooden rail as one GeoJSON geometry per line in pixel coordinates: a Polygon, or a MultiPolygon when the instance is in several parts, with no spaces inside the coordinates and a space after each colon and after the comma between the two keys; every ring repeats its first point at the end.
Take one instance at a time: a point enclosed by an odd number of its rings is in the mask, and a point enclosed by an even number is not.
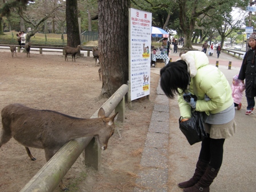
{"type": "MultiPolygon", "coordinates": [[[[94,136],[101,149],[106,150],[109,138],[114,134],[117,116],[118,113],[105,117],[102,107],[98,118],[77,118],[13,103],[2,109],[0,147],[13,137],[25,146],[31,161],[36,158],[29,147],[44,149],[46,161],[49,161],[71,139],[94,136]]],[[[62,180],[59,187],[67,190],[62,180]]]]}

